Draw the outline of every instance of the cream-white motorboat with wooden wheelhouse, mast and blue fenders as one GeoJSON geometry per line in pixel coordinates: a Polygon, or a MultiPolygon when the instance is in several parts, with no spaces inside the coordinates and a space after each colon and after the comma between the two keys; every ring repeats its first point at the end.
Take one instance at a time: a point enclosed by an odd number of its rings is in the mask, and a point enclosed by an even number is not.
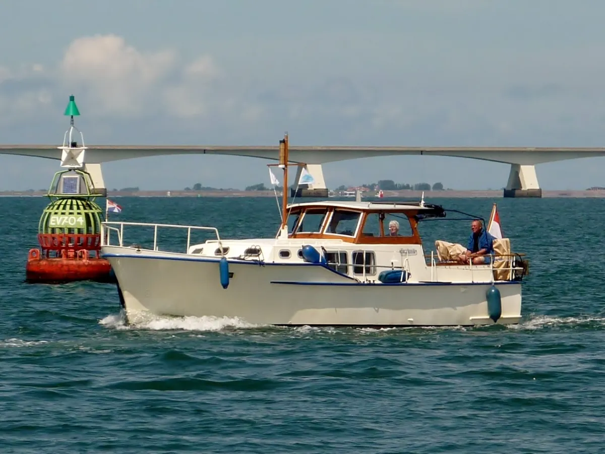
{"type": "MultiPolygon", "coordinates": [[[[287,136],[280,143],[287,187],[287,136]]],[[[494,241],[499,254],[489,265],[450,260],[453,243],[437,241],[437,251],[425,255],[417,226],[445,217],[441,206],[321,201],[282,208],[274,238],[224,239],[206,226],[103,223],[102,256],[116,274],[128,319],[154,314],[374,327],[520,321],[527,263],[511,253],[508,239],[494,241]],[[388,232],[391,220],[399,222],[396,236],[388,232]],[[152,229],[153,245],[127,241],[133,226],[152,229]],[[163,228],[182,228],[186,250],[160,250],[163,228]],[[215,239],[191,244],[195,231],[215,239]]]]}

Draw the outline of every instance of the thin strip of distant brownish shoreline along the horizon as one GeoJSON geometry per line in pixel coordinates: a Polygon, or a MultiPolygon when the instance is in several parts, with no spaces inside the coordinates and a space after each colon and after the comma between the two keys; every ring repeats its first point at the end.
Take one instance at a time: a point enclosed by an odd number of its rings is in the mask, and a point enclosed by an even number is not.
{"type": "MultiPolygon", "coordinates": [[[[384,197],[392,198],[397,197],[400,199],[420,199],[422,197],[422,191],[383,191],[384,197]]],[[[278,192],[278,195],[280,193],[278,192]]],[[[0,197],[44,197],[45,192],[42,191],[0,191],[0,197]]],[[[489,190],[489,189],[476,189],[473,191],[424,191],[426,199],[435,198],[489,198],[499,199],[503,197],[502,189],[489,190]]],[[[108,191],[107,197],[275,197],[273,191],[108,191]],[[168,196],[170,192],[170,196],[168,196]]],[[[339,196],[335,196],[339,197],[339,196]]],[[[362,192],[362,199],[376,199],[378,196],[376,192],[362,192]]],[[[593,189],[593,190],[549,190],[542,189],[542,198],[557,198],[557,197],[569,197],[569,198],[605,198],[605,189],[593,189]]],[[[341,197],[339,197],[341,198],[341,197]]],[[[355,200],[355,197],[347,197],[348,199],[355,200]]]]}

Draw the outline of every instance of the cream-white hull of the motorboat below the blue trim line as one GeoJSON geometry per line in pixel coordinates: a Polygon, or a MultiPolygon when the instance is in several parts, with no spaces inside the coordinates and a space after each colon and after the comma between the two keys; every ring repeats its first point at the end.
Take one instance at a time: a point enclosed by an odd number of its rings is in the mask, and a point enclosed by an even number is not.
{"type": "MultiPolygon", "coordinates": [[[[252,324],[310,326],[469,326],[494,324],[492,284],[360,283],[322,265],[229,260],[227,288],[218,260],[103,248],[129,321],[148,314],[238,317],[252,324]]],[[[130,249],[132,251],[132,249],[130,249]]],[[[497,282],[502,314],[521,318],[521,283],[497,282]]]]}

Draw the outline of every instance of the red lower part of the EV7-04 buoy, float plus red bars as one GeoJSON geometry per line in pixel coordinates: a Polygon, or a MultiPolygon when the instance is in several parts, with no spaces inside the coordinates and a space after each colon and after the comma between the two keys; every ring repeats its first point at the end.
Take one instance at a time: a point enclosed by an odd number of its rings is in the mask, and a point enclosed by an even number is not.
{"type": "Polygon", "coordinates": [[[65,283],[113,282],[110,263],[99,256],[100,234],[38,234],[42,248],[30,249],[25,280],[65,283]]]}

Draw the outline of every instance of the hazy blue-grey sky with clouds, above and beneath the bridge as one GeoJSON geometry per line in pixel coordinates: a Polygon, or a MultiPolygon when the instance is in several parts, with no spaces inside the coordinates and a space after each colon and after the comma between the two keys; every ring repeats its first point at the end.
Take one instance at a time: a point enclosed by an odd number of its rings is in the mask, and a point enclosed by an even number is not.
{"type": "MultiPolygon", "coordinates": [[[[0,143],[59,146],[70,94],[87,145],[605,146],[605,2],[5,2],[0,143]],[[6,20],[6,18],[12,18],[6,20]]],[[[269,184],[267,160],[103,164],[108,188],[269,184]]],[[[329,188],[390,179],[499,189],[510,166],[374,157],[329,188]]],[[[59,162],[0,155],[0,190],[59,162]]],[[[537,166],[543,189],[605,186],[605,157],[537,166]]]]}

